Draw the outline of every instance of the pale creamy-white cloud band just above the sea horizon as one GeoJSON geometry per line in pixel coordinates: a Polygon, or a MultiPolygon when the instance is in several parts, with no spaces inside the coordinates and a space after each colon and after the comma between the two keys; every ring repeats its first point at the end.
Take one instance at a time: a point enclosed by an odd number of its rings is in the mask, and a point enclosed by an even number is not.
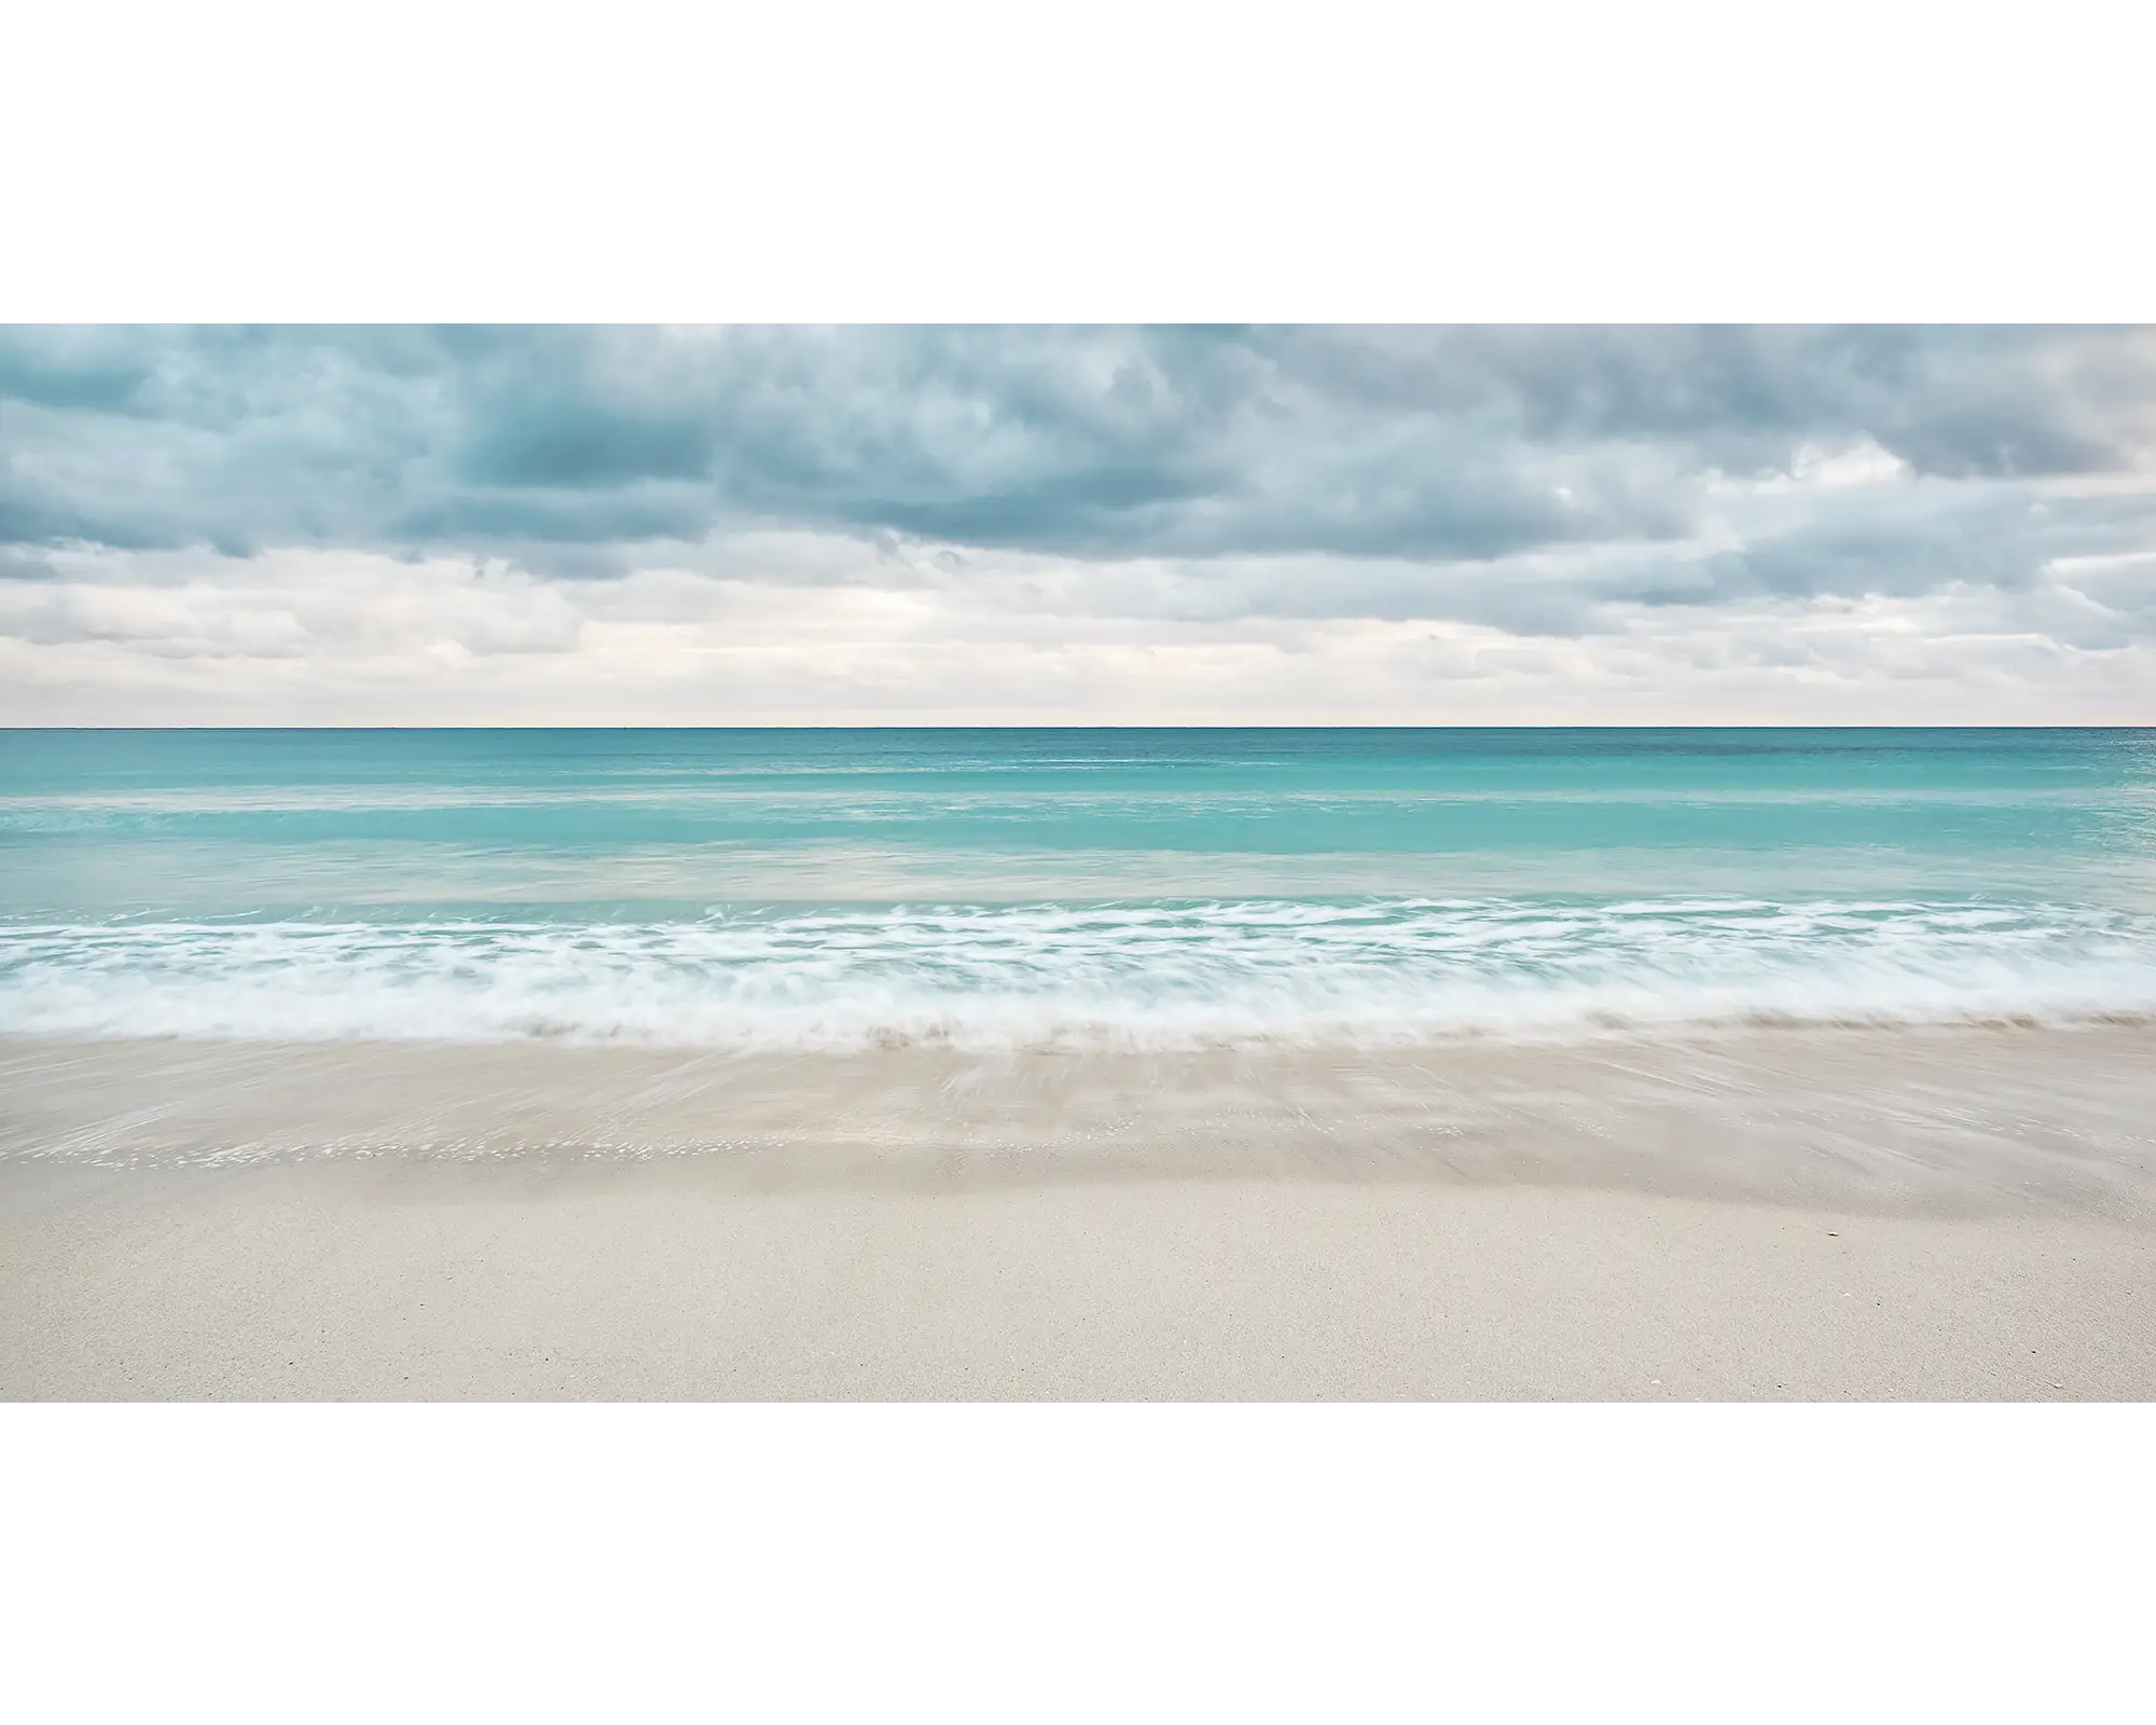
{"type": "Polygon", "coordinates": [[[776,552],[826,580],[759,580],[770,546],[714,548],[724,576],[582,582],[313,550],[192,571],[78,552],[67,580],[0,582],[0,720],[2141,722],[2156,690],[2156,630],[2063,580],[1617,599],[1593,630],[1535,636],[1177,597],[1240,589],[1263,574],[1248,567],[1143,563],[1102,582],[1093,565],[929,552],[906,584],[875,584],[873,548],[776,552]]]}

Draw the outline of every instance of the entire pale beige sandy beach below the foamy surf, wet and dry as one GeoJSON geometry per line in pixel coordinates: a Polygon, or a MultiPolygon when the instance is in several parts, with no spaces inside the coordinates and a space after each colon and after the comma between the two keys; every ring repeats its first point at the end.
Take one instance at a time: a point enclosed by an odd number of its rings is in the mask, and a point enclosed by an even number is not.
{"type": "Polygon", "coordinates": [[[2147,1402],[2145,1029],[0,1044],[9,1402],[2147,1402]]]}

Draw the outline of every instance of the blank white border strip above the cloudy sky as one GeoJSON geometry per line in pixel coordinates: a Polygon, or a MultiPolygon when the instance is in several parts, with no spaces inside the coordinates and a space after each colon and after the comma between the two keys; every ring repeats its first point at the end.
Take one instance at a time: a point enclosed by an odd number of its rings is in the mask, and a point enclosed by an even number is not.
{"type": "Polygon", "coordinates": [[[2156,313],[2150,26],[26,9],[9,317],[2156,313]]]}

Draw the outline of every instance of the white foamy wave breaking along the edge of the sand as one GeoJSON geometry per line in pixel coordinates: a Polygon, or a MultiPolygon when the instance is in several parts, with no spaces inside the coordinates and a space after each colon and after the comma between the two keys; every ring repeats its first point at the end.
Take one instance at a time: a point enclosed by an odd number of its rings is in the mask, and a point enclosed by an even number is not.
{"type": "Polygon", "coordinates": [[[1173,1050],[2152,1016],[2156,919],[2078,906],[1244,899],[0,927],[0,1031],[69,1037],[1173,1050]]]}

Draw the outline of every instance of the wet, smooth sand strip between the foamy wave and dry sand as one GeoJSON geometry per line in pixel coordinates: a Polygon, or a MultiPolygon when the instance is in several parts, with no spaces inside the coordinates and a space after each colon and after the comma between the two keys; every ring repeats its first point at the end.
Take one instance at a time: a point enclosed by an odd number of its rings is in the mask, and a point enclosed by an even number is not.
{"type": "Polygon", "coordinates": [[[759,1186],[1539,1184],[2156,1223],[2156,1033],[1011,1057],[0,1035],[0,1167],[369,1156],[694,1160],[759,1186]]]}

